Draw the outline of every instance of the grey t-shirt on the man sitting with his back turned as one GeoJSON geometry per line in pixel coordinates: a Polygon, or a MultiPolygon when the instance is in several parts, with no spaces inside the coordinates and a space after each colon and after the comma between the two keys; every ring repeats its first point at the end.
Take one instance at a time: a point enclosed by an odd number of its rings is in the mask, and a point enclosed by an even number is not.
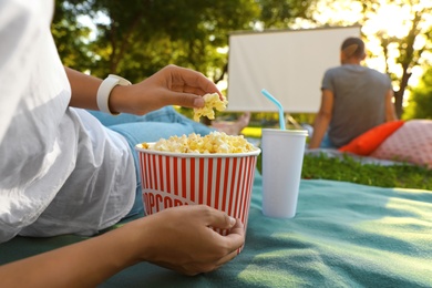
{"type": "Polygon", "coordinates": [[[326,71],[321,89],[335,96],[328,133],[336,147],[385,122],[385,94],[392,89],[388,75],[343,64],[326,71]]]}

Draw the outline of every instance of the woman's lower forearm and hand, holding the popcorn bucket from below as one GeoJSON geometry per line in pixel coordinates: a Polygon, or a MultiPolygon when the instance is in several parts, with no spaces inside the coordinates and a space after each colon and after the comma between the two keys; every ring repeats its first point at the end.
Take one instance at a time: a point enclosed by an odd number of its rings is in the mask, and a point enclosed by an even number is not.
{"type": "Polygon", "coordinates": [[[101,236],[0,267],[4,287],[95,287],[138,261],[186,275],[214,270],[237,255],[239,220],[203,205],[181,206],[101,236]],[[222,236],[209,226],[230,228],[222,236]]]}

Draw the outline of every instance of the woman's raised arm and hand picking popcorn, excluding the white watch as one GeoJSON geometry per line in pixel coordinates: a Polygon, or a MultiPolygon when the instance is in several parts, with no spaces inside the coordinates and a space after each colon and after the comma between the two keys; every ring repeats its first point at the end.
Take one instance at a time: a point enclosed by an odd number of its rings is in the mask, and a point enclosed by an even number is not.
{"type": "MultiPolygon", "coordinates": [[[[99,110],[96,95],[101,79],[65,68],[72,88],[71,106],[99,110]]],[[[166,105],[203,107],[206,93],[222,94],[202,73],[167,65],[144,81],[114,86],[109,99],[111,112],[143,115],[166,105]]]]}

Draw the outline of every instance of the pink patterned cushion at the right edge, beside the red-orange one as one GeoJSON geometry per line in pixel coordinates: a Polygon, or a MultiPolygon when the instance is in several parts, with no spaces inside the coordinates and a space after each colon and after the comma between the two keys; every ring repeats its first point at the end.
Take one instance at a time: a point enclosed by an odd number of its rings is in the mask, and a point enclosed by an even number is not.
{"type": "Polygon", "coordinates": [[[407,121],[370,156],[432,168],[432,120],[407,121]]]}

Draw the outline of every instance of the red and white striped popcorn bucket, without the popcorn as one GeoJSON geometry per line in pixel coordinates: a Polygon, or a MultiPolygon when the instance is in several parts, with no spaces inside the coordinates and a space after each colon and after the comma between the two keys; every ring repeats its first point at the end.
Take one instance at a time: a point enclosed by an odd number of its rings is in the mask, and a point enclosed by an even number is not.
{"type": "MultiPolygon", "coordinates": [[[[229,154],[161,152],[141,144],[135,148],[146,215],[179,205],[205,204],[239,218],[246,230],[259,148],[229,154]]],[[[228,233],[214,229],[222,235],[228,233]]]]}

